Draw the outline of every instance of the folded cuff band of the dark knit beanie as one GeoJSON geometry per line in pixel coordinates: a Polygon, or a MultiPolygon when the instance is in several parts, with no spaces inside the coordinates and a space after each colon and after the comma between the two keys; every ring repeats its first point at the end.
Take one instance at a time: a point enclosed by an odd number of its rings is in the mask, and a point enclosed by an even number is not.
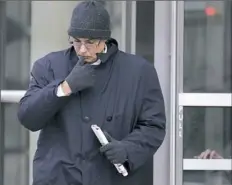
{"type": "Polygon", "coordinates": [[[109,39],[111,36],[110,30],[96,30],[96,29],[79,29],[70,27],[68,29],[69,36],[79,38],[99,38],[109,39]]]}

